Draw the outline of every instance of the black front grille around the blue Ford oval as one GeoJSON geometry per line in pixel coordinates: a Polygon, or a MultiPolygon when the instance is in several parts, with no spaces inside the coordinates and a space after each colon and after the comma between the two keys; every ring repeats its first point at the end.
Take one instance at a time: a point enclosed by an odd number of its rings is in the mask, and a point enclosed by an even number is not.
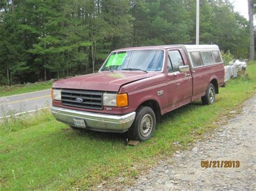
{"type": "Polygon", "coordinates": [[[102,110],[102,97],[103,92],[100,91],[62,89],[62,104],[70,107],[102,110]],[[77,102],[77,98],[82,102],[77,102]]]}

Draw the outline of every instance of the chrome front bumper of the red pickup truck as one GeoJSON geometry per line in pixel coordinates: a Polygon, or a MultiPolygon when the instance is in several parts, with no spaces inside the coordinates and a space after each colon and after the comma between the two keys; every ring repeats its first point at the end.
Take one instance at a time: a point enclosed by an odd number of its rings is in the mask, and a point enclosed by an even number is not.
{"type": "Polygon", "coordinates": [[[134,111],[126,115],[109,115],[59,108],[55,106],[51,107],[51,113],[58,121],[70,126],[80,128],[79,126],[74,125],[73,118],[75,117],[84,119],[86,129],[104,132],[127,131],[131,127],[136,115],[136,112],[134,111]]]}

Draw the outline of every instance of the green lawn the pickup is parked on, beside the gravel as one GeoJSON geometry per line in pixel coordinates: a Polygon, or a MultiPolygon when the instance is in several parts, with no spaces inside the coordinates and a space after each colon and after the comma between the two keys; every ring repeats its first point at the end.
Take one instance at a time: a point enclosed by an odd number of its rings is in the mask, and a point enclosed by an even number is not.
{"type": "Polygon", "coordinates": [[[196,101],[165,115],[154,136],[137,146],[127,146],[124,134],[71,130],[48,111],[5,121],[0,127],[0,189],[86,189],[120,175],[129,180],[159,155],[175,151],[173,142],[185,148],[221,118],[234,115],[231,110],[239,111],[255,94],[255,62],[248,73],[221,88],[214,105],[196,101]]]}

